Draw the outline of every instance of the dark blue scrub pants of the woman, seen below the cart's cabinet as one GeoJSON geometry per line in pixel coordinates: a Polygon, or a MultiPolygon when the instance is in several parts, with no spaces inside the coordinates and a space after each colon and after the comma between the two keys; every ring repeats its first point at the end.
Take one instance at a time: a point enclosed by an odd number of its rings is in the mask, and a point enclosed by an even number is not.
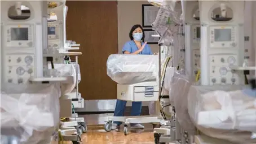
{"type": "MultiPolygon", "coordinates": [[[[117,100],[116,108],[114,109],[114,117],[123,117],[125,113],[125,106],[127,101],[117,100]]],[[[131,116],[139,116],[142,112],[142,102],[141,101],[133,101],[131,105],[131,116]]],[[[114,122],[118,126],[122,124],[122,122],[114,122]]]]}

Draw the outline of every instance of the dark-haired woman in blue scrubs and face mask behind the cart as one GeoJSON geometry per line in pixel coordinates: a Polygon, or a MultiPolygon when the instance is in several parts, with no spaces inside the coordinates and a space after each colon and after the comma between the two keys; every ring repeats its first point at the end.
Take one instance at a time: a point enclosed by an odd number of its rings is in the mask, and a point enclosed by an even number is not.
{"type": "MultiPolygon", "coordinates": [[[[141,25],[134,25],[131,27],[129,33],[130,41],[127,41],[123,45],[123,54],[153,54],[151,48],[147,42],[143,43],[142,40],[145,38],[145,34],[141,25]]],[[[114,117],[123,117],[125,113],[125,106],[127,101],[117,100],[116,108],[114,109],[114,117]]],[[[142,111],[142,102],[133,101],[131,106],[131,116],[139,116],[142,111]]],[[[114,122],[112,124],[112,129],[119,131],[122,122],[114,122]]],[[[144,129],[142,124],[132,124],[131,128],[144,129]]]]}

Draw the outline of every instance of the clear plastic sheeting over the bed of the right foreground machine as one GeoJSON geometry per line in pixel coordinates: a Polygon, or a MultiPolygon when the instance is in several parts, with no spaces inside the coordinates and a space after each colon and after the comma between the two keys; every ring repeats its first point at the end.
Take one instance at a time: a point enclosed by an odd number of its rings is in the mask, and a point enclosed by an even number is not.
{"type": "Polygon", "coordinates": [[[188,112],[204,134],[236,143],[255,143],[255,97],[242,91],[244,86],[191,86],[188,112]]]}

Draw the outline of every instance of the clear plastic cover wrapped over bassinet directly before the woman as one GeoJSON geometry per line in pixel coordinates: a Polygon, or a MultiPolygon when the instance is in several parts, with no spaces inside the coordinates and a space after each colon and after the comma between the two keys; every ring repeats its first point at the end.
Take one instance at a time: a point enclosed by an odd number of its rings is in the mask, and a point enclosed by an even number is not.
{"type": "Polygon", "coordinates": [[[158,55],[109,55],[107,75],[113,81],[126,85],[156,80],[158,76],[158,55]]]}

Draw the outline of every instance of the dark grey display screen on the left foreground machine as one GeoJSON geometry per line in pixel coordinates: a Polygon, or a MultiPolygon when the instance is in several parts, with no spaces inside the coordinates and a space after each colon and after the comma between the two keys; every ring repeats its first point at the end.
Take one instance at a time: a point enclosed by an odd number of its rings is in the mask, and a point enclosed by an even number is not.
{"type": "Polygon", "coordinates": [[[28,40],[28,28],[11,28],[11,40],[28,40]]]}

